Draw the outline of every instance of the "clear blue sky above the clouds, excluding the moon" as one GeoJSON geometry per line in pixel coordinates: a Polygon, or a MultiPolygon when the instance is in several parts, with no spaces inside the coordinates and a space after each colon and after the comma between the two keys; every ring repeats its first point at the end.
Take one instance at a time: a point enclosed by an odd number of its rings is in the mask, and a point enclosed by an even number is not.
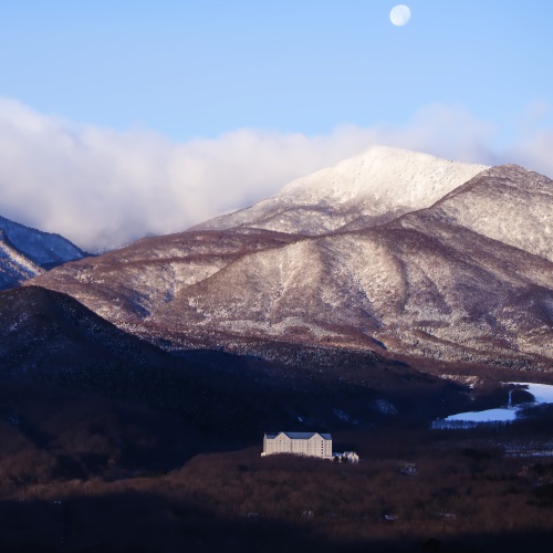
{"type": "Polygon", "coordinates": [[[512,133],[529,105],[553,105],[553,2],[413,0],[403,28],[396,3],[3,1],[0,94],[179,140],[398,124],[435,102],[512,133]]]}

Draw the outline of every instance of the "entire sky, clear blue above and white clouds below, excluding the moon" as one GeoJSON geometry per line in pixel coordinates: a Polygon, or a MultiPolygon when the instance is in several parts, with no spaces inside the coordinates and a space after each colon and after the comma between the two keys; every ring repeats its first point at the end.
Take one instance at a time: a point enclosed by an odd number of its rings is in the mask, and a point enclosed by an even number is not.
{"type": "Polygon", "coordinates": [[[397,3],[0,0],[0,213],[96,248],[377,142],[553,176],[553,2],[397,3]]]}

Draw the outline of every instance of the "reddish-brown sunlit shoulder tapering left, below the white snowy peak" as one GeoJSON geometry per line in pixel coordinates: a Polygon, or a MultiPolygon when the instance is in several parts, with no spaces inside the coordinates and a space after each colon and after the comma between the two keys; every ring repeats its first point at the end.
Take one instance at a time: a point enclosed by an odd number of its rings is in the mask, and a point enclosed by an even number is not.
{"type": "Polygon", "coordinates": [[[189,231],[146,238],[96,258],[54,269],[40,285],[74,295],[116,322],[143,321],[184,288],[202,281],[243,255],[296,241],[293,234],[237,229],[189,231]]]}

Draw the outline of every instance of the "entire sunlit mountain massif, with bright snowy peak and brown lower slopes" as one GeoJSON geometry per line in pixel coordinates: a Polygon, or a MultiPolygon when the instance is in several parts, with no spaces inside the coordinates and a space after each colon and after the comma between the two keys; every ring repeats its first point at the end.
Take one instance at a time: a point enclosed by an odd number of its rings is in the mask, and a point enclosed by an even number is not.
{"type": "Polygon", "coordinates": [[[276,341],[547,369],[552,213],[553,181],[521,167],[373,148],[34,282],[173,349],[276,341]]]}

